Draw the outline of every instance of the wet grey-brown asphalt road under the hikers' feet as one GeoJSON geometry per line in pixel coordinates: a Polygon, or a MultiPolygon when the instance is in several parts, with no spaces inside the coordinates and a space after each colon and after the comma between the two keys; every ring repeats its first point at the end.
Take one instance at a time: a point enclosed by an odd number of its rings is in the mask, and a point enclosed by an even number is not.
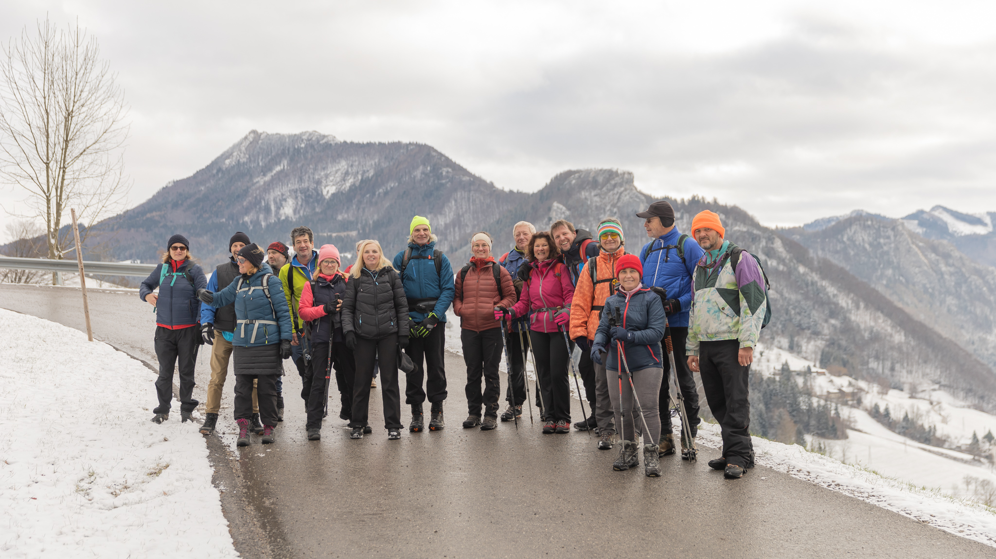
{"type": "MultiPolygon", "coordinates": [[[[0,285],[0,306],[85,329],[80,291],[0,285]]],[[[151,306],[134,292],[91,290],[95,336],[155,363],[151,306]]],[[[244,557],[992,557],[982,544],[762,466],[724,480],[705,465],[662,460],[663,476],[612,471],[614,451],[585,434],[500,424],[463,430],[462,359],[449,356],[446,429],[362,441],[330,406],[323,440],[304,433],[301,383],[285,377],[286,421],[269,448],[212,441],[239,503],[222,497],[244,557]],[[220,449],[220,450],[219,450],[220,449]],[[267,452],[268,451],[268,452],[267,452]],[[219,453],[230,453],[221,460],[219,453]],[[764,479],[762,479],[764,477],[764,479]],[[243,523],[256,525],[242,529],[243,523]]],[[[194,397],[204,401],[206,352],[194,397]]],[[[504,379],[502,379],[504,388],[504,379]]],[[[403,390],[403,388],[402,388],[403,390]]],[[[332,389],[335,393],[335,388],[332,389]]],[[[379,395],[371,425],[382,425],[379,395]]],[[[152,404],[152,402],[150,402],[152,404]]],[[[222,415],[230,413],[226,387],[222,415]]],[[[577,402],[575,402],[577,404],[577,402]]],[[[407,419],[405,409],[402,416],[407,419]]],[[[581,417],[576,410],[576,419],[581,417]]],[[[216,438],[217,439],[217,438],[216,438]]],[[[218,476],[216,475],[216,480],[218,476]]]]}

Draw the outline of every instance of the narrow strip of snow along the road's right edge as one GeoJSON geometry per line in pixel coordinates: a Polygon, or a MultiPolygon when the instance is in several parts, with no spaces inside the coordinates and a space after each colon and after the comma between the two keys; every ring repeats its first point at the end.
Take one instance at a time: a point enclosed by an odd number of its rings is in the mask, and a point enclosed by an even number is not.
{"type": "MultiPolygon", "coordinates": [[[[675,426],[675,432],[678,427],[675,426]]],[[[705,447],[721,449],[719,426],[703,423],[697,441],[705,447]]],[[[799,445],[783,445],[753,438],[756,464],[789,473],[887,510],[925,522],[954,535],[996,547],[996,509],[970,500],[944,494],[936,489],[917,487],[901,480],[882,476],[862,466],[843,464],[832,458],[811,453],[799,445]]],[[[703,453],[700,453],[705,455],[703,453]]],[[[710,456],[701,456],[709,460],[710,456]]],[[[747,475],[763,475],[752,469],[747,475]]]]}

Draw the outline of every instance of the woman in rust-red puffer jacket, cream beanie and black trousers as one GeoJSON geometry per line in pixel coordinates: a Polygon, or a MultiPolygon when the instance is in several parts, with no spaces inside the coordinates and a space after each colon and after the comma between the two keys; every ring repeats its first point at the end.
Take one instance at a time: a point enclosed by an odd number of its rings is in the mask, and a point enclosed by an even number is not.
{"type": "Polygon", "coordinates": [[[491,257],[491,243],[491,236],[484,232],[476,233],[470,239],[470,250],[474,256],[470,264],[456,275],[456,293],[453,296],[453,312],[460,317],[463,361],[467,364],[469,416],[463,427],[481,426],[482,431],[498,426],[498,396],[501,394],[498,363],[501,362],[501,336],[504,332],[495,319],[494,309],[495,306],[512,306],[516,301],[512,276],[491,257]],[[498,282],[495,282],[496,270],[499,273],[498,282]],[[484,406],[483,424],[481,406],[484,406]]]}

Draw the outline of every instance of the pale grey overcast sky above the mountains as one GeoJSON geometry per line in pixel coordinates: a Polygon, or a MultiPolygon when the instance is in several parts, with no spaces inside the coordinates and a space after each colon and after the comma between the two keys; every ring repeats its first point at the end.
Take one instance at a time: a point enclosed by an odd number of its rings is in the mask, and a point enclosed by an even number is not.
{"type": "Polygon", "coordinates": [[[423,142],[505,189],[628,169],[772,226],[996,211],[991,2],[5,0],[0,38],[46,13],[124,86],[131,205],[257,129],[423,142]]]}

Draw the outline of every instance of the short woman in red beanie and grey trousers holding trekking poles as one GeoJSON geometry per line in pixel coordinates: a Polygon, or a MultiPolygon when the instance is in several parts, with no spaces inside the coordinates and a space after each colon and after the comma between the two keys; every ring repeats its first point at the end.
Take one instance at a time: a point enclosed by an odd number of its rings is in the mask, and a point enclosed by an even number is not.
{"type": "Polygon", "coordinates": [[[640,283],[643,267],[634,255],[625,255],[616,263],[619,291],[606,299],[602,319],[592,344],[592,360],[605,361],[609,379],[609,397],[616,411],[616,425],[622,426],[622,445],[613,469],[622,471],[637,466],[638,447],[633,428],[643,437],[643,468],[648,477],[660,475],[657,441],[660,440],[660,414],[657,398],[664,376],[660,338],[664,335],[666,318],[660,296],[640,283]],[[620,363],[619,346],[622,344],[620,363]],[[622,374],[620,371],[622,370],[622,374]],[[633,388],[629,387],[632,379],[633,388]],[[632,396],[636,392],[643,417],[633,414],[632,396]],[[622,393],[622,398],[621,398],[622,393]],[[622,404],[621,404],[622,400],[622,404]],[[646,421],[646,428],[643,421],[646,421]],[[638,423],[637,423],[638,422],[638,423]]]}

